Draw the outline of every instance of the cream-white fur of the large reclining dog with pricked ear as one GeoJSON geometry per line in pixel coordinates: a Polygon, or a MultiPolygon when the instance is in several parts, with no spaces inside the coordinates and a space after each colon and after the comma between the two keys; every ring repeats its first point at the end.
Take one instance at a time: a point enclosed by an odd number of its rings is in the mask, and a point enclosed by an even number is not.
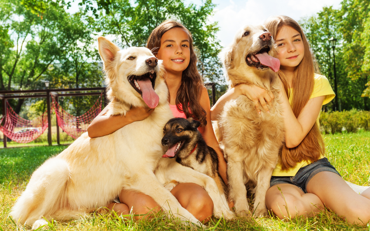
{"type": "Polygon", "coordinates": [[[146,119],[130,123],[110,135],[90,139],[84,133],[63,152],[46,160],[34,171],[26,190],[17,199],[10,213],[13,219],[36,229],[47,224],[44,218],[68,220],[88,216],[97,208],[107,206],[125,188],[151,196],[163,210],[172,210],[181,220],[199,223],[163,187],[174,179],[205,188],[215,203],[215,215],[221,217],[223,213],[226,218],[232,218],[225,197],[211,177],[189,171],[175,160],[162,158],[166,151],[161,145],[162,129],[173,115],[168,106],[161,61],[158,65],[152,62],[153,65],[148,65],[149,59],[156,59],[144,47],[120,50],[104,37],[98,38],[98,42],[106,83],[110,87],[107,115],[125,115],[131,106],[147,106],[128,77],[149,72],[157,75],[154,89],[159,96],[158,106],[146,119]],[[154,174],[157,167],[161,182],[154,174]],[[170,174],[166,174],[167,171],[170,174]]]}

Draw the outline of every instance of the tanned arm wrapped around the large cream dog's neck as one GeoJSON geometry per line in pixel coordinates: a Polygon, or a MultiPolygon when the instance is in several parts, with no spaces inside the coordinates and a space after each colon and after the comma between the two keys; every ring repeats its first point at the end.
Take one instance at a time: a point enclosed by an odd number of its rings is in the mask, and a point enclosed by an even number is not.
{"type": "Polygon", "coordinates": [[[87,128],[87,133],[90,138],[100,137],[108,135],[112,132],[117,131],[124,126],[147,118],[154,109],[150,108],[135,108],[132,107],[126,116],[121,115],[106,115],[108,112],[108,106],[106,106],[97,117],[90,123],[87,128]]]}

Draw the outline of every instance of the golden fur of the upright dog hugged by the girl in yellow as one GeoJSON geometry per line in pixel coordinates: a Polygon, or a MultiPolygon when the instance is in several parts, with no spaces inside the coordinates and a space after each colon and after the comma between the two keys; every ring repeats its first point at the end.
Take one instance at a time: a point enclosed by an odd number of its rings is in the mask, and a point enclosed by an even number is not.
{"type": "Polygon", "coordinates": [[[273,56],[272,38],[269,41],[260,39],[265,31],[263,26],[243,27],[235,35],[232,45],[220,54],[230,88],[240,83],[254,84],[275,96],[270,113],[260,106],[262,112],[259,115],[255,103],[240,95],[225,104],[218,123],[214,125],[228,161],[229,200],[234,201],[236,213],[240,215],[249,211],[246,186],[252,186],[255,193],[253,213],[267,213],[265,194],[284,139],[282,107],[277,98],[277,74],[266,66],[257,68],[246,63],[250,54],[256,54],[266,45],[269,55],[273,56]]]}

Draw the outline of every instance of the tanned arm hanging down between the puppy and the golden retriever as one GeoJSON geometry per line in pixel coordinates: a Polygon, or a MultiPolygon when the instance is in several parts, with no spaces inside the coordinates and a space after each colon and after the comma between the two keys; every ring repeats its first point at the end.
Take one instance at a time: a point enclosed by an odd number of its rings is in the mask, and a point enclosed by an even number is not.
{"type": "Polygon", "coordinates": [[[209,103],[208,91],[205,87],[202,90],[200,103],[201,103],[202,108],[207,113],[207,115],[206,115],[207,125],[204,127],[203,137],[204,137],[207,145],[209,147],[212,147],[213,149],[215,149],[215,151],[217,153],[217,156],[218,156],[218,172],[219,172],[220,176],[222,177],[223,182],[225,182],[225,184],[227,185],[228,184],[228,179],[227,179],[227,175],[226,175],[226,169],[227,169],[226,161],[225,161],[225,158],[223,157],[220,146],[217,142],[215,132],[213,131],[212,122],[211,122],[211,115],[210,115],[211,114],[210,113],[211,112],[211,106],[210,106],[210,103],[209,103]]]}

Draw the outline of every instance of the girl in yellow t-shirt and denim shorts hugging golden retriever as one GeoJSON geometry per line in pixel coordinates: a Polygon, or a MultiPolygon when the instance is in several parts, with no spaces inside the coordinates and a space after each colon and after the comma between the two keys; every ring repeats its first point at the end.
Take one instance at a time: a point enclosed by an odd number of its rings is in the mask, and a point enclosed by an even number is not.
{"type": "MultiPolygon", "coordinates": [[[[327,78],[319,75],[302,28],[287,16],[271,17],[265,27],[275,40],[280,61],[279,98],[285,123],[285,144],[266,193],[268,209],[284,219],[313,216],[327,207],[347,222],[367,224],[370,188],[357,194],[324,157],[319,113],[335,95],[327,78]]],[[[273,95],[257,86],[240,84],[213,106],[212,120],[217,120],[225,102],[240,94],[255,102],[259,113],[260,106],[269,111],[273,95]]]]}

